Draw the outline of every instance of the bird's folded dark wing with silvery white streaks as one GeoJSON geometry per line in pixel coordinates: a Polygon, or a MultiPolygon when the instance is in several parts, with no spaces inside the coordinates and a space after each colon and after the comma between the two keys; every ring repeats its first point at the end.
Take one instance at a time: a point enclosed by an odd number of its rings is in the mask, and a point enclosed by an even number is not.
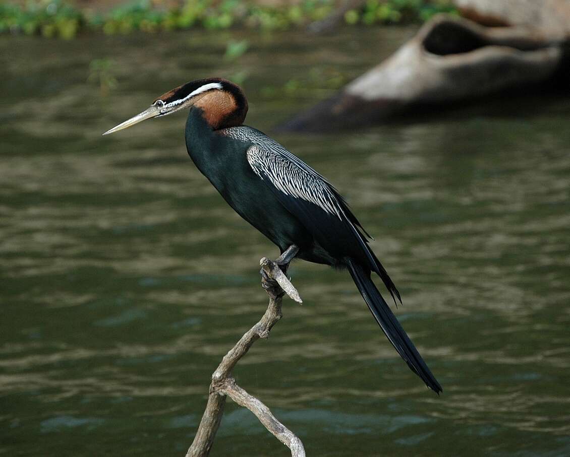
{"type": "Polygon", "coordinates": [[[332,184],[279,143],[258,131],[254,132],[256,135],[250,135],[253,144],[247,149],[247,161],[280,203],[308,229],[316,232],[316,239],[322,246],[353,245],[357,241],[361,252],[368,258],[370,269],[380,276],[392,297],[395,295],[400,299],[396,286],[369,248],[362,232],[367,233],[332,184]],[[317,208],[324,211],[324,217],[322,213],[321,217],[315,216],[317,208]]]}

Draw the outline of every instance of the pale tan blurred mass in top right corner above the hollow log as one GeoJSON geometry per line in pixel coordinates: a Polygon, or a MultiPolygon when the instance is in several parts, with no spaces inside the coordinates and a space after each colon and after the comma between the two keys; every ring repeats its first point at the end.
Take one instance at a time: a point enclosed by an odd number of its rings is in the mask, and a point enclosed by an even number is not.
{"type": "Polygon", "coordinates": [[[570,34],[570,0],[453,0],[463,17],[487,26],[531,26],[570,34]]]}

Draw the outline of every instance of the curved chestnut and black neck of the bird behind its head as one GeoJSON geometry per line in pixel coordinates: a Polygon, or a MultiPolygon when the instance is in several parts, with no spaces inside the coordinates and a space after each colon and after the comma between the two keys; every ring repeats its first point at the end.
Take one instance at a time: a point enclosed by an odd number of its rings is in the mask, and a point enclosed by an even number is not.
{"type": "Polygon", "coordinates": [[[209,90],[196,98],[193,105],[202,110],[202,116],[212,130],[242,125],[246,118],[247,101],[243,93],[209,90]]]}

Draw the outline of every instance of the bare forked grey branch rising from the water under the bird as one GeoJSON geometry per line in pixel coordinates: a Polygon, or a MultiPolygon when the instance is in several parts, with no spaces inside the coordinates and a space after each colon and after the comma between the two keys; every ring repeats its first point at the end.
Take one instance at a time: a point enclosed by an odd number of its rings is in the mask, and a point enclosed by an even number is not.
{"type": "Polygon", "coordinates": [[[262,258],[259,263],[268,277],[279,283],[279,286],[264,286],[267,295],[269,295],[267,311],[259,322],[251,327],[223,357],[221,364],[218,365],[218,368],[212,374],[210,395],[208,397],[206,410],[202,415],[202,420],[198,426],[198,431],[196,432],[192,446],[190,446],[188,452],[186,452],[186,457],[205,457],[210,454],[215,434],[222,421],[226,396],[229,396],[238,405],[244,406],[254,413],[268,431],[290,448],[292,457],[305,456],[305,450],[301,440],[279,422],[271,413],[270,409],[259,401],[258,398],[251,396],[235,384],[235,380],[231,376],[235,365],[246,355],[251,345],[259,338],[267,339],[271,328],[282,318],[281,302],[283,292],[296,302],[302,303],[298,291],[291,284],[289,279],[287,279],[287,276],[279,268],[278,264],[265,257],[262,258]]]}

